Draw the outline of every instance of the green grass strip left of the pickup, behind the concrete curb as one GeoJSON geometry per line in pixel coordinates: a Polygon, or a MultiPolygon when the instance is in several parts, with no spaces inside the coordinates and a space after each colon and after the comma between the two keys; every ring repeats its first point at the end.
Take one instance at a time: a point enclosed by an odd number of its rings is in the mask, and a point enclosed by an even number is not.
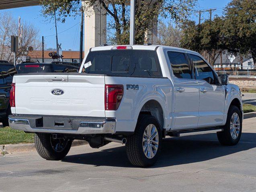
{"type": "Polygon", "coordinates": [[[24,131],[14,130],[10,127],[0,128],[0,145],[33,142],[34,134],[28,134],[24,131]]]}

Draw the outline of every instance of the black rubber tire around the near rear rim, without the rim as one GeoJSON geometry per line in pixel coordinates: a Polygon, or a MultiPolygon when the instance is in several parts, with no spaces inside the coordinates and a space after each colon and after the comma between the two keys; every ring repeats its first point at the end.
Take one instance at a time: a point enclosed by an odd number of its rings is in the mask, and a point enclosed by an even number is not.
{"type": "Polygon", "coordinates": [[[156,163],[162,146],[162,132],[158,121],[151,115],[139,116],[135,132],[127,137],[126,154],[134,166],[149,167],[156,163]],[[143,152],[143,134],[148,125],[153,124],[158,132],[158,149],[153,158],[147,158],[143,152]]]}

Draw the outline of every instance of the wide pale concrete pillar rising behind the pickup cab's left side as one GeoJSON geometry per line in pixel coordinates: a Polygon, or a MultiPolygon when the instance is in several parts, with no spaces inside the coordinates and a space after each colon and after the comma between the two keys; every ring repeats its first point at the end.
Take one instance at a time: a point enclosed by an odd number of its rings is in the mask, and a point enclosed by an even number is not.
{"type": "Polygon", "coordinates": [[[100,19],[100,5],[88,7],[86,1],[82,3],[85,7],[84,52],[86,53],[92,47],[100,46],[100,44],[106,44],[106,10],[101,8],[100,19]]]}

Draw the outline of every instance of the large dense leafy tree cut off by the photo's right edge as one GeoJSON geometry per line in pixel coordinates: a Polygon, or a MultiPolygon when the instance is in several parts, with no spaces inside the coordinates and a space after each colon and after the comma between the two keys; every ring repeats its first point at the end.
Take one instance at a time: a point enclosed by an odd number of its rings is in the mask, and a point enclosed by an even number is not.
{"type": "Polygon", "coordinates": [[[234,54],[251,54],[256,64],[256,1],[232,0],[225,7],[225,48],[234,54]]]}

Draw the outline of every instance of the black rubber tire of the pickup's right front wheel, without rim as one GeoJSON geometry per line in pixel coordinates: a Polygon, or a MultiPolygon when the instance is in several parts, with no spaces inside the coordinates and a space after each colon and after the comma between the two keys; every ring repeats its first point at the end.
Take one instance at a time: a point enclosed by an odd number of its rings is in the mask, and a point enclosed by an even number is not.
{"type": "Polygon", "coordinates": [[[231,105],[229,107],[228,114],[227,114],[227,122],[222,128],[223,128],[222,132],[217,132],[217,137],[220,144],[225,146],[232,146],[232,145],[238,144],[242,134],[242,115],[237,106],[231,105]],[[239,120],[240,120],[240,131],[236,139],[232,138],[231,129],[230,129],[231,117],[235,113],[238,114],[239,120]]]}

